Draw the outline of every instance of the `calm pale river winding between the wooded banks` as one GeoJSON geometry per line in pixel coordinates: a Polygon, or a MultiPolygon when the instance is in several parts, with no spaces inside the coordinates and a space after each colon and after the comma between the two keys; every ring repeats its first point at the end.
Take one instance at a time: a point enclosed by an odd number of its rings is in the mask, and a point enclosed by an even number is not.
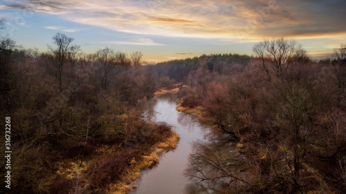
{"type": "MultiPolygon", "coordinates": [[[[164,95],[147,102],[154,110],[156,122],[165,122],[173,126],[180,135],[180,141],[174,150],[161,156],[159,163],[141,175],[137,182],[136,194],[185,194],[196,193],[195,184],[184,177],[188,166],[188,156],[194,142],[206,142],[203,138],[204,128],[194,115],[176,111],[176,95],[164,95]]],[[[210,193],[201,191],[197,193],[210,193]]]]}

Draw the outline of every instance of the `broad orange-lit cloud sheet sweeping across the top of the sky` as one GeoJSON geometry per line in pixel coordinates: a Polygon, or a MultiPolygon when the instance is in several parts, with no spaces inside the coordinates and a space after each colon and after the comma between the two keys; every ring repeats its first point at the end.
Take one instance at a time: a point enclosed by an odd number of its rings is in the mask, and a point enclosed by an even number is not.
{"type": "Polygon", "coordinates": [[[7,6],[136,35],[244,41],[346,35],[342,0],[27,0],[7,6]]]}

